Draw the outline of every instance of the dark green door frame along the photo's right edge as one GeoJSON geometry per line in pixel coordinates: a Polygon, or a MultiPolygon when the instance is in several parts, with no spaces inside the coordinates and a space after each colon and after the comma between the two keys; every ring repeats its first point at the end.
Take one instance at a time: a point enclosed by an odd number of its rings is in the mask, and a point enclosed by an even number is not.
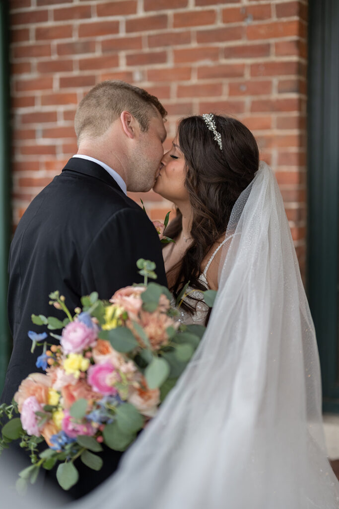
{"type": "Polygon", "coordinates": [[[323,409],[339,412],[339,2],[309,2],[308,293],[322,371],[323,409]]]}

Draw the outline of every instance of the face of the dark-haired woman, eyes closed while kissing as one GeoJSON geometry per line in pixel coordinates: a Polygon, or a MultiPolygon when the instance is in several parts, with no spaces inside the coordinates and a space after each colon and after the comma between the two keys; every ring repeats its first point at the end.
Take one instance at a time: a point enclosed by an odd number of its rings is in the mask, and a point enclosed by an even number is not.
{"type": "Polygon", "coordinates": [[[167,200],[178,203],[188,201],[189,195],[185,181],[185,162],[182,152],[180,152],[177,139],[172,142],[171,149],[164,154],[156,183],[153,191],[161,194],[167,200]]]}

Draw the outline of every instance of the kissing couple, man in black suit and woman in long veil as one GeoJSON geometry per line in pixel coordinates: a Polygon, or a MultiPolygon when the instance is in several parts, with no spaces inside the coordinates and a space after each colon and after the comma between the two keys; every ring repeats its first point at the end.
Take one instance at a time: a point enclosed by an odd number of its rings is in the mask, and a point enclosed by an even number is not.
{"type": "Polygon", "coordinates": [[[141,282],[138,259],[151,260],[173,302],[189,285],[179,320],[207,329],[122,459],[106,448],[99,472],[79,464],[68,493],[82,498],[71,507],[338,507],[315,330],[274,174],[248,128],[210,112],[181,119],[164,154],[165,117],[156,97],[122,81],[80,102],[78,153],[29,205],[11,245],[2,401],[36,371],[27,330],[37,309],[48,314],[51,291],[71,309],[93,291],[109,299],[141,282]],[[127,196],[151,188],[176,209],[163,249],[127,196]],[[206,289],[218,290],[211,313],[206,289]]]}

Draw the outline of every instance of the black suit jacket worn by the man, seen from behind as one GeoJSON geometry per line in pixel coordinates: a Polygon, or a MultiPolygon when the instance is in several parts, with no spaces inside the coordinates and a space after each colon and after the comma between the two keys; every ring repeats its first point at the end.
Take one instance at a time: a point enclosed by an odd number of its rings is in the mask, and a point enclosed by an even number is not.
{"type": "MultiPolygon", "coordinates": [[[[80,297],[97,291],[109,299],[119,288],[141,282],[139,258],[157,264],[158,280],[167,285],[158,234],[145,212],[120,189],[99,164],[72,158],[62,173],[29,205],[16,229],[9,261],[8,318],[13,352],[2,401],[10,403],[20,382],[38,372],[28,330],[43,332],[34,314],[65,318],[48,304],[59,290],[74,313],[80,297]]],[[[106,449],[100,472],[83,468],[71,490],[79,497],[112,473],[120,454],[106,449]]],[[[83,465],[77,464],[81,469],[83,465]]]]}

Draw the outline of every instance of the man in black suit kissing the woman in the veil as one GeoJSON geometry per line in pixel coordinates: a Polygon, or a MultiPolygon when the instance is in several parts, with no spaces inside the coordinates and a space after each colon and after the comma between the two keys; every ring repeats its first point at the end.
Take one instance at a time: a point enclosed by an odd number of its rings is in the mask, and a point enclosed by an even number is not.
{"type": "MultiPolygon", "coordinates": [[[[122,81],[99,83],[80,102],[75,116],[78,153],[29,205],[11,244],[8,317],[13,352],[3,402],[10,403],[21,380],[39,371],[27,332],[42,330],[31,315],[65,318],[49,306],[49,293],[59,290],[71,312],[81,306],[82,295],[93,291],[109,299],[119,288],[142,281],[139,258],[154,261],[158,282],[167,286],[156,229],[126,195],[127,190],[153,186],[163,156],[165,116],[156,97],[122,81]]],[[[120,456],[106,448],[100,472],[77,464],[80,480],[71,497],[100,484],[120,456]]]]}

